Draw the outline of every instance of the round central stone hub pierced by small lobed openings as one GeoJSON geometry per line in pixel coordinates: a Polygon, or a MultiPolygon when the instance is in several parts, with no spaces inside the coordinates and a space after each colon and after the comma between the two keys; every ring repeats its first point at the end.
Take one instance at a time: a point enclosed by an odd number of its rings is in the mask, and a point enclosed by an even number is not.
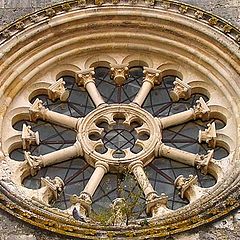
{"type": "Polygon", "coordinates": [[[106,162],[110,172],[138,160],[147,165],[162,138],[158,121],[135,104],[101,106],[83,119],[78,132],[88,163],[106,162]]]}

